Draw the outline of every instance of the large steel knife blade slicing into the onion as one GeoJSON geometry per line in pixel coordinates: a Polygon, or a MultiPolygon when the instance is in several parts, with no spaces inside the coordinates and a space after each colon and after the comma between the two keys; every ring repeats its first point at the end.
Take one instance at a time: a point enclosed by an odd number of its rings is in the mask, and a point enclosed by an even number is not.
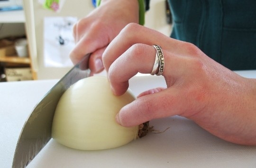
{"type": "Polygon", "coordinates": [[[75,82],[90,76],[86,55],[46,93],[31,112],[18,138],[12,168],[25,168],[52,138],[55,108],[62,94],[75,82]]]}

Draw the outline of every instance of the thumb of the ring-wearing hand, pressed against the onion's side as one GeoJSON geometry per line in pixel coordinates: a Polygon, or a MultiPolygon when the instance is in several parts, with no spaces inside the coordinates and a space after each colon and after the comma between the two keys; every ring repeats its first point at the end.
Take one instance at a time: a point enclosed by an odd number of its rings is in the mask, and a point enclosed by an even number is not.
{"type": "Polygon", "coordinates": [[[116,120],[121,126],[137,126],[154,118],[178,115],[182,108],[177,107],[178,102],[175,95],[168,95],[167,89],[147,94],[120,109],[116,120]]]}

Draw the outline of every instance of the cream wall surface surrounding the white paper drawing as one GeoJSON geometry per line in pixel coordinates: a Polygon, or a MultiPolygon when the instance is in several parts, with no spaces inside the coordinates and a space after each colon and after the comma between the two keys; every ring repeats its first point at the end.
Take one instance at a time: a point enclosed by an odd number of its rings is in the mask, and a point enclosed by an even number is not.
{"type": "Polygon", "coordinates": [[[91,0],[64,0],[59,12],[43,8],[38,1],[24,0],[27,24],[29,51],[38,79],[60,79],[72,67],[46,67],[44,64],[44,18],[45,17],[77,17],[86,16],[92,9],[91,0]]]}

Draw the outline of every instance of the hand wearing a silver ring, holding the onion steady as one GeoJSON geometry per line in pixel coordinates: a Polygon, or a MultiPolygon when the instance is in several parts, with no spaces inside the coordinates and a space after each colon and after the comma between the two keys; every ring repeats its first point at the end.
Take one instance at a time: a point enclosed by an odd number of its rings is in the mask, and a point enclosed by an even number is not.
{"type": "Polygon", "coordinates": [[[103,53],[114,94],[123,94],[137,72],[151,73],[153,44],[164,53],[167,88],[141,93],[120,110],[119,124],[135,126],[180,115],[229,142],[256,145],[256,79],[238,76],[191,43],[129,24],[103,53]]]}

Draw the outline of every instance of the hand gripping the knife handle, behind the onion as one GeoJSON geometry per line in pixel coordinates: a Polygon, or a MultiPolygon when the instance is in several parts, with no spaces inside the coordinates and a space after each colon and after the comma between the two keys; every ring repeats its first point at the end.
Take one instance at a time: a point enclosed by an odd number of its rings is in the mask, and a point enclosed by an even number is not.
{"type": "Polygon", "coordinates": [[[101,0],[101,6],[74,25],[75,48],[70,53],[73,64],[91,53],[92,74],[103,70],[101,56],[108,44],[128,23],[138,23],[137,0],[101,0]]]}

